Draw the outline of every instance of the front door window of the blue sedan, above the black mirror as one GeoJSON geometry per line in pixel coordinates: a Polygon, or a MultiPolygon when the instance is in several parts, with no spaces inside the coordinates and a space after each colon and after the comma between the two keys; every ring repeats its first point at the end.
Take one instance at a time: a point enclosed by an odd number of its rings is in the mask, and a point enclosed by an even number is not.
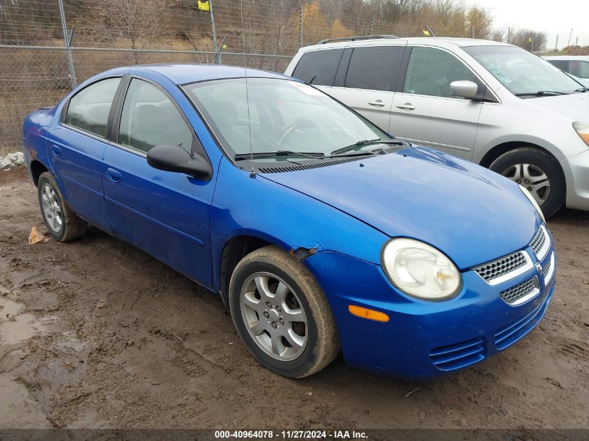
{"type": "Polygon", "coordinates": [[[159,88],[131,80],[118,130],[118,144],[147,153],[160,145],[192,151],[192,132],[174,103],[159,88]]]}

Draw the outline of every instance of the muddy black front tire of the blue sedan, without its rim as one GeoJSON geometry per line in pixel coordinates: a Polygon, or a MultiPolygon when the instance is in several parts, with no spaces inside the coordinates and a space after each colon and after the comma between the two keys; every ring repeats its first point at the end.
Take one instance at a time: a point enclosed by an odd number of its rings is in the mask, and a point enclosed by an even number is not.
{"type": "Polygon", "coordinates": [[[282,376],[310,376],[321,371],[339,354],[339,334],[321,287],[300,261],[278,247],[257,249],[238,263],[229,282],[229,309],[237,331],[252,355],[270,371],[282,376]],[[268,355],[247,329],[241,310],[241,291],[248,279],[259,272],[280,277],[296,295],[304,311],[307,342],[295,359],[284,361],[268,355]]]}

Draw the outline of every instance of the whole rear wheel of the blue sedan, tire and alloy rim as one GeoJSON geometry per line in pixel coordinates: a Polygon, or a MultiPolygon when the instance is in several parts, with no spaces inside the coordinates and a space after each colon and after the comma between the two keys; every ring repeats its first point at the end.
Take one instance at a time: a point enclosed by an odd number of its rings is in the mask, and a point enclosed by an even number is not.
{"type": "Polygon", "coordinates": [[[70,209],[48,171],[39,176],[37,194],[43,221],[55,240],[67,242],[86,234],[88,223],[70,209]]]}

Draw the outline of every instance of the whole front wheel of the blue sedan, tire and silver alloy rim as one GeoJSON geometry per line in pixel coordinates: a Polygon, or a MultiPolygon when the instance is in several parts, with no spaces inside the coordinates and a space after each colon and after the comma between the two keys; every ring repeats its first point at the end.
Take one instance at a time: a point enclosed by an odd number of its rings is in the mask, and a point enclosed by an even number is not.
{"type": "Polygon", "coordinates": [[[257,249],[238,263],[229,309],[252,355],[282,376],[310,376],[339,353],[335,320],[319,284],[278,247],[257,249]]]}

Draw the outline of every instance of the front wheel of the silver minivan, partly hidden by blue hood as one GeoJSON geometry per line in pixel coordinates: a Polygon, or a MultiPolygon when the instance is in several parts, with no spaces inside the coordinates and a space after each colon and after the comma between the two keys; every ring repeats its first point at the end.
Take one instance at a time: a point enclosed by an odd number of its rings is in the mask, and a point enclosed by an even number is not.
{"type": "Polygon", "coordinates": [[[565,176],[550,153],[535,147],[519,147],[500,155],[489,169],[528,189],[545,217],[555,215],[565,204],[565,176]]]}

